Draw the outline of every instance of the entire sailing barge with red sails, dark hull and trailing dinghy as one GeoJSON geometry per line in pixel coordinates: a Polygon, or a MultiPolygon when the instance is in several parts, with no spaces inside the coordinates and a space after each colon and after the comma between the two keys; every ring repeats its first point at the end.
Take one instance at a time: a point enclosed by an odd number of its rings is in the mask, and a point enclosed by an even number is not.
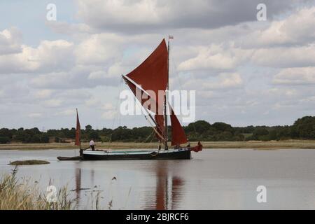
{"type": "MultiPolygon", "coordinates": [[[[144,110],[148,112],[145,117],[153,127],[155,136],[160,142],[159,148],[155,151],[91,151],[83,150],[80,147],[79,157],[58,157],[59,160],[190,160],[191,151],[202,151],[200,142],[198,142],[197,146],[190,147],[179,119],[176,117],[172,106],[167,102],[167,91],[169,90],[169,41],[167,47],[166,41],[163,39],[158,48],[142,64],[127,75],[122,76],[122,78],[144,110]],[[154,106],[150,106],[151,104],[146,106],[147,100],[154,102],[154,106]],[[170,112],[169,117],[172,130],[171,147],[174,146],[174,148],[169,148],[167,144],[167,108],[170,112]],[[155,113],[155,115],[151,115],[150,111],[155,113]],[[164,146],[163,150],[161,150],[161,144],[164,146]],[[188,145],[181,146],[183,144],[188,145]]],[[[76,145],[80,146],[78,111],[76,145]]]]}

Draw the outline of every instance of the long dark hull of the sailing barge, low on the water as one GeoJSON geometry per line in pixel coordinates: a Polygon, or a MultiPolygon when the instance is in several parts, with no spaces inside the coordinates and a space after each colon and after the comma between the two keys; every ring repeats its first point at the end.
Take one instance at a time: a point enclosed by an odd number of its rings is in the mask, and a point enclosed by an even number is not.
{"type": "Polygon", "coordinates": [[[108,155],[84,154],[83,160],[190,160],[190,150],[169,153],[125,153],[119,155],[111,155],[110,153],[108,155]]]}

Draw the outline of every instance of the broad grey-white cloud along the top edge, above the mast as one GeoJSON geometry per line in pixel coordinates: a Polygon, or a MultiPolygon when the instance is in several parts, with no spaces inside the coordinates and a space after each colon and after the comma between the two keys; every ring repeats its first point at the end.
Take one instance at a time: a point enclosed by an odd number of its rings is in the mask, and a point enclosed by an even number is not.
{"type": "MultiPolygon", "coordinates": [[[[78,18],[102,31],[149,33],[160,29],[213,29],[256,20],[258,0],[78,0],[78,18]],[[241,13],[239,13],[241,12],[241,13]]],[[[295,1],[265,0],[268,16],[295,1]]]]}

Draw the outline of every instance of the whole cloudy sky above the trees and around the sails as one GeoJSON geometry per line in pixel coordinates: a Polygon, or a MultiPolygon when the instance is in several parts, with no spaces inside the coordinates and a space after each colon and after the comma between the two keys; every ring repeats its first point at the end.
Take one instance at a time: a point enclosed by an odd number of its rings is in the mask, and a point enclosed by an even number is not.
{"type": "Polygon", "coordinates": [[[3,0],[0,16],[0,127],[74,127],[76,108],[82,126],[147,125],[119,116],[120,75],[168,34],[170,86],[197,91],[197,120],[315,116],[314,0],[3,0]]]}

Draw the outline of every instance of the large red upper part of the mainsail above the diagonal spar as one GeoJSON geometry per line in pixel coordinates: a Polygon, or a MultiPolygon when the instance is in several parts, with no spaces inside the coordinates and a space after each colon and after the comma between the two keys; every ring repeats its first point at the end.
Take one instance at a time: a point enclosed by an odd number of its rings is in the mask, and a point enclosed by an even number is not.
{"type": "Polygon", "coordinates": [[[158,99],[159,90],[165,91],[167,89],[167,57],[167,45],[165,39],[163,39],[158,48],[137,69],[127,74],[135,83],[141,85],[144,90],[155,92],[155,101],[158,102],[158,114],[162,114],[162,102],[164,102],[164,97],[163,99],[158,99]]]}

